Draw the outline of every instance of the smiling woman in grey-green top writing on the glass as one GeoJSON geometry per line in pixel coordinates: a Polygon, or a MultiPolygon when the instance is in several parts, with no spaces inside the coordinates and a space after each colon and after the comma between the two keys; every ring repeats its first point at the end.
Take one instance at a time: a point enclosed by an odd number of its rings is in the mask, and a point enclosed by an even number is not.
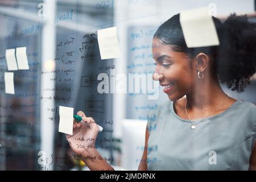
{"type": "MultiPolygon", "coordinates": [[[[220,46],[188,48],[179,14],[154,35],[154,79],[171,101],[150,113],[156,119],[147,123],[139,170],[256,169],[256,107],[229,97],[219,84],[243,92],[256,72],[256,26],[236,14],[223,24],[213,20],[220,46]]],[[[67,137],[73,151],[92,170],[113,169],[94,148],[98,127],[93,118],[77,114],[90,128],[74,123],[74,135],[67,137]],[[80,143],[89,147],[77,148],[80,143]]]]}

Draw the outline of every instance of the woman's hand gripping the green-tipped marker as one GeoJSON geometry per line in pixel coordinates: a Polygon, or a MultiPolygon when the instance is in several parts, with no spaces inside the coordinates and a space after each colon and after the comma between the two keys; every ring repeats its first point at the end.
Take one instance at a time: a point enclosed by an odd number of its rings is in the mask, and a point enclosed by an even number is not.
{"type": "Polygon", "coordinates": [[[93,118],[86,117],[82,111],[78,111],[77,115],[82,117],[82,121],[76,122],[74,119],[73,135],[66,135],[66,138],[72,150],[77,155],[81,155],[90,148],[94,148],[98,135],[98,126],[93,118]],[[82,122],[87,123],[87,125],[82,124],[82,122]]]}

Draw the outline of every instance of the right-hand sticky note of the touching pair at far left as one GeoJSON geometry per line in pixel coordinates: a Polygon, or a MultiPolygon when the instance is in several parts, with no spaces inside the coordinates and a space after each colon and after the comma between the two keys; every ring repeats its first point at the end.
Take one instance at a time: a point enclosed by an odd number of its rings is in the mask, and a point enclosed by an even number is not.
{"type": "Polygon", "coordinates": [[[28,67],[26,49],[27,49],[26,47],[17,47],[16,48],[16,58],[17,58],[17,63],[18,63],[19,69],[30,69],[28,67]]]}

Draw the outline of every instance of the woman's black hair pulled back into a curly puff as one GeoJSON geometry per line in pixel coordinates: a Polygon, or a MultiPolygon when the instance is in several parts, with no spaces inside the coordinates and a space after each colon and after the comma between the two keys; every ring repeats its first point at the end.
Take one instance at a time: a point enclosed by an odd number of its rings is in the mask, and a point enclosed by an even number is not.
{"type": "Polygon", "coordinates": [[[212,75],[217,76],[228,88],[243,92],[250,77],[256,72],[256,23],[249,22],[247,15],[230,14],[224,23],[215,17],[219,46],[188,48],[180,25],[180,14],[172,16],[155,32],[163,44],[170,44],[174,51],[185,52],[193,57],[200,52],[213,57],[212,75]]]}

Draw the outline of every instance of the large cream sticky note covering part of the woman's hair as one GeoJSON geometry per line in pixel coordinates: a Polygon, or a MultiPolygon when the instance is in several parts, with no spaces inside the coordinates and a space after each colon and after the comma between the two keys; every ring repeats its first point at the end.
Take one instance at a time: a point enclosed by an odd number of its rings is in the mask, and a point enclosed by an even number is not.
{"type": "Polygon", "coordinates": [[[208,7],[181,11],[180,24],[188,48],[220,44],[208,7]]]}

